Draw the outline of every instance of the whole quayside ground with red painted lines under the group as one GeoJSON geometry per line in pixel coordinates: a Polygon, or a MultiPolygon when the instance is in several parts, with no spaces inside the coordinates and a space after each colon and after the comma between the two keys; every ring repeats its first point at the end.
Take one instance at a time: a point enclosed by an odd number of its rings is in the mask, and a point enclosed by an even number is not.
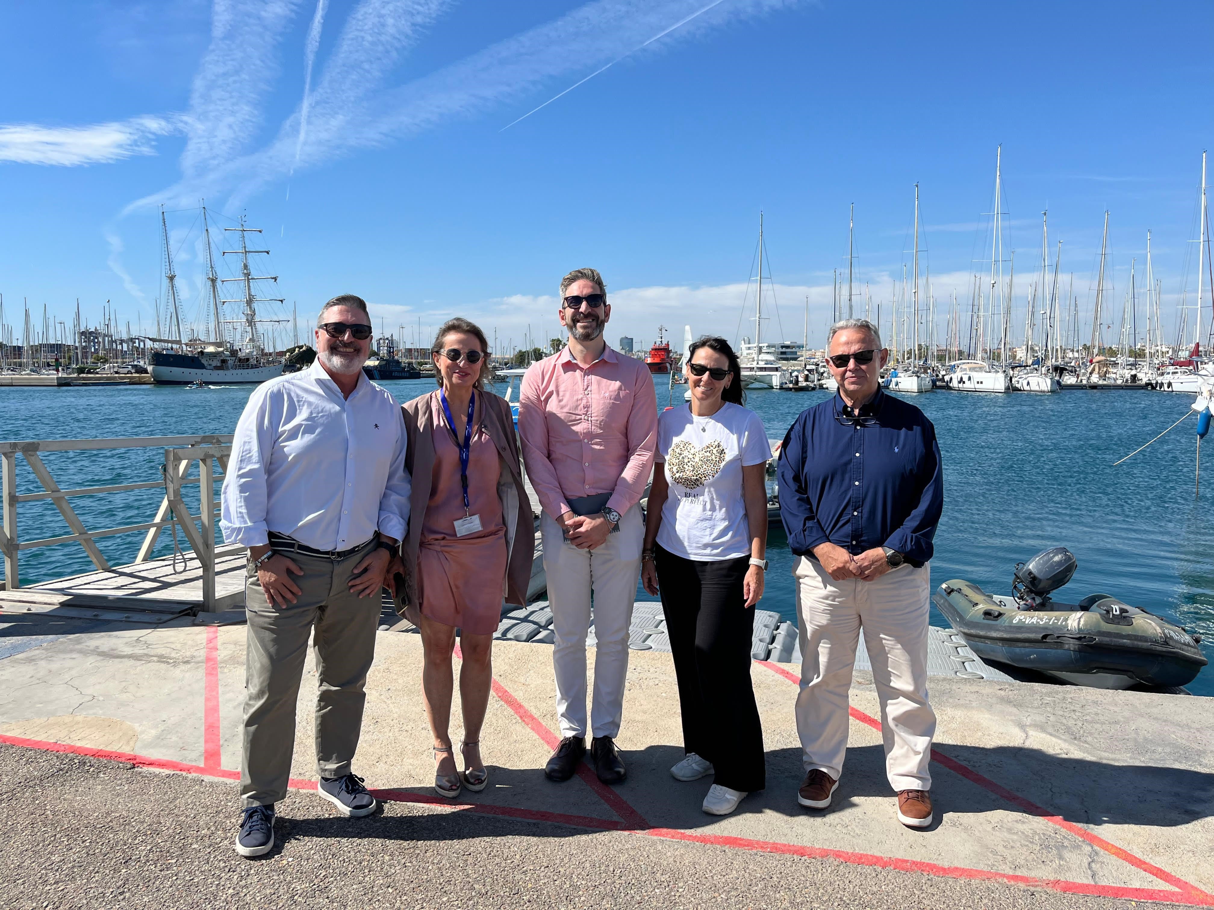
{"type": "Polygon", "coordinates": [[[450,803],[430,789],[421,643],[396,631],[378,638],[354,766],[382,814],[345,819],[312,792],[310,665],[283,843],[242,860],[244,629],[199,625],[238,619],[0,615],[4,903],[1214,906],[1214,699],[934,677],[937,820],[912,831],[868,675],[834,806],[815,812],[795,801],[798,667],[755,661],[767,789],[714,818],[699,809],[709,779],[668,773],[682,755],[669,654],[631,654],[628,780],[607,787],[588,767],[557,785],[541,772],[551,650],[504,641],[481,736],[490,785],[450,803]]]}

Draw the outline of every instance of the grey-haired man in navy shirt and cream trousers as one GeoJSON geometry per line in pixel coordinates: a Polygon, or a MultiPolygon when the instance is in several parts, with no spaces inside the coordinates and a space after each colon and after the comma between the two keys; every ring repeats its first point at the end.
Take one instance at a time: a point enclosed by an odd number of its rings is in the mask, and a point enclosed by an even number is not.
{"type": "Polygon", "coordinates": [[[936,430],[886,394],[875,325],[830,326],[839,393],[801,413],[779,456],[779,510],[796,561],[804,750],[802,806],[822,809],[847,749],[847,689],[860,631],[881,704],[885,770],[898,820],[931,824],[927,610],[931,540],[943,506],[936,430]]]}

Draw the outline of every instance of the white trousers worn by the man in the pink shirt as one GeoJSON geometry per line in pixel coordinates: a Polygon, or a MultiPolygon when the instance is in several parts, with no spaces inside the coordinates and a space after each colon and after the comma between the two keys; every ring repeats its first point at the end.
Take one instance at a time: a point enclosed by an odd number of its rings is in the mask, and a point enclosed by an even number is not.
{"type": "Polygon", "coordinates": [[[628,627],[632,621],[636,582],[641,576],[645,522],[641,507],[620,516],[619,531],[607,535],[596,550],[578,550],[546,513],[544,573],[552,610],[552,667],[556,673],[556,716],[562,736],[586,735],[586,632],[594,593],[595,694],[591,705],[594,736],[615,738],[624,712],[628,677],[628,627]]]}

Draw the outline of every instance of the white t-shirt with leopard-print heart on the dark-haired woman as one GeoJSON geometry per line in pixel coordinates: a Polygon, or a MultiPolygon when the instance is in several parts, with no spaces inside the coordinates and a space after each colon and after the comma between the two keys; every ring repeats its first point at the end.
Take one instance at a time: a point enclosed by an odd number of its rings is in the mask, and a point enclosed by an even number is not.
{"type": "Polygon", "coordinates": [[[736,559],[750,553],[742,467],[771,457],[759,415],[722,404],[708,417],[690,406],[658,415],[658,455],[670,494],[658,544],[685,559],[736,559]]]}

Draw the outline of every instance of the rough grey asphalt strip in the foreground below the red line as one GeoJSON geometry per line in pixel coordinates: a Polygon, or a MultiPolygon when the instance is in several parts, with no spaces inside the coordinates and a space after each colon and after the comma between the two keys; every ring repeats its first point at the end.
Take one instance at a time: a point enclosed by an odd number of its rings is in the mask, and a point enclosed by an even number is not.
{"type": "MultiPolygon", "coordinates": [[[[232,849],[237,786],[0,745],[5,908],[1129,908],[994,881],[388,803],[279,803],[278,844],[232,849]]],[[[891,819],[891,824],[895,824],[891,819]]]]}

